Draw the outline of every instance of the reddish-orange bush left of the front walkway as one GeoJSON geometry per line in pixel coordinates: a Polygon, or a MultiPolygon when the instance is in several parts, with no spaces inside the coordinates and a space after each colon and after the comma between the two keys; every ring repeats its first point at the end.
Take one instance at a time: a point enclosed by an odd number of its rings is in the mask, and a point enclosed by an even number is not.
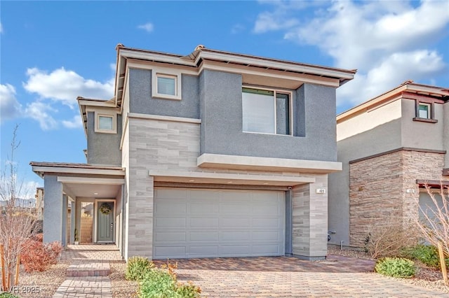
{"type": "Polygon", "coordinates": [[[58,241],[42,243],[34,239],[29,239],[22,248],[20,260],[27,272],[45,271],[51,264],[58,262],[62,251],[62,245],[58,241]]]}

